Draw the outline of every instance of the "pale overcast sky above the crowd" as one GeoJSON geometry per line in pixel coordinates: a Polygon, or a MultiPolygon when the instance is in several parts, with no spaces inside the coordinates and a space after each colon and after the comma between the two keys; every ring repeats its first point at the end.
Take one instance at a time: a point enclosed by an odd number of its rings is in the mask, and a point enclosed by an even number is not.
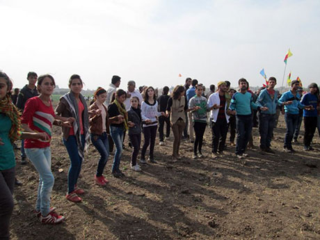
{"type": "Polygon", "coordinates": [[[0,0],[0,70],[22,88],[26,74],[51,74],[67,88],[79,74],[85,89],[106,88],[113,75],[136,86],[205,86],[259,74],[281,86],[320,75],[320,1],[0,0]],[[179,77],[182,74],[182,77],[179,77]]]}

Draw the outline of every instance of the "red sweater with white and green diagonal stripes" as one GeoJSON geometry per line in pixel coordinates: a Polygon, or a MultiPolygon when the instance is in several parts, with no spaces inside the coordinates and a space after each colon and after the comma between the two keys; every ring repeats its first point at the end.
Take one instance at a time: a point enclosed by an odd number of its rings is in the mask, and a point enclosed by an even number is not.
{"type": "Polygon", "coordinates": [[[27,124],[35,132],[45,132],[49,136],[49,141],[26,139],[24,141],[24,147],[49,147],[54,118],[55,114],[51,102],[50,106],[46,106],[39,97],[31,97],[24,106],[21,122],[27,124]]]}

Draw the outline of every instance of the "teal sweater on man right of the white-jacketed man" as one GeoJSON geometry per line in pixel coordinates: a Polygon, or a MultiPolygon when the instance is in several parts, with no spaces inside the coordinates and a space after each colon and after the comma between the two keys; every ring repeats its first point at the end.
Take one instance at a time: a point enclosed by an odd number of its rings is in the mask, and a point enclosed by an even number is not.
{"type": "Polygon", "coordinates": [[[259,109],[259,106],[253,102],[253,96],[251,93],[234,93],[231,99],[229,107],[231,110],[235,110],[237,115],[250,115],[251,108],[259,109]]]}

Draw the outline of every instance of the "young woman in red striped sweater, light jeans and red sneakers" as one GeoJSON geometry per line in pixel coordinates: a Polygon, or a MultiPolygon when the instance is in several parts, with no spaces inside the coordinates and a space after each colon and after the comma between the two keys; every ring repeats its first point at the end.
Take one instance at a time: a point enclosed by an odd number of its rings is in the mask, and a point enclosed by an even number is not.
{"type": "MultiPolygon", "coordinates": [[[[65,127],[71,127],[72,118],[67,119],[54,114],[51,103],[51,94],[56,83],[49,75],[42,75],[38,79],[38,97],[31,97],[24,106],[22,127],[29,132],[42,134],[40,140],[27,139],[24,142],[26,156],[35,166],[40,175],[38,186],[38,199],[35,205],[35,215],[40,217],[41,223],[61,223],[64,217],[56,214],[56,208],[50,208],[51,191],[54,186],[54,175],[51,172],[51,131],[55,119],[63,120],[65,127]],[[70,122],[68,122],[70,121],[70,122]]],[[[56,122],[58,123],[62,122],[56,122]]]]}

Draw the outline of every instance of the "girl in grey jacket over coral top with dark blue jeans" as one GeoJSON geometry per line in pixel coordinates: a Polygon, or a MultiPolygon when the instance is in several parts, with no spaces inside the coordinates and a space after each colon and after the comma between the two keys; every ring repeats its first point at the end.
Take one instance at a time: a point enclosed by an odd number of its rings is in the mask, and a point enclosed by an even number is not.
{"type": "Polygon", "coordinates": [[[73,127],[63,127],[63,143],[70,157],[70,168],[67,174],[67,195],[65,198],[71,202],[81,202],[78,195],[84,190],[77,186],[84,160],[84,151],[89,144],[89,115],[86,99],[81,95],[83,82],[78,74],[69,79],[70,92],[60,98],[56,107],[57,115],[65,118],[74,118],[73,127]]]}

